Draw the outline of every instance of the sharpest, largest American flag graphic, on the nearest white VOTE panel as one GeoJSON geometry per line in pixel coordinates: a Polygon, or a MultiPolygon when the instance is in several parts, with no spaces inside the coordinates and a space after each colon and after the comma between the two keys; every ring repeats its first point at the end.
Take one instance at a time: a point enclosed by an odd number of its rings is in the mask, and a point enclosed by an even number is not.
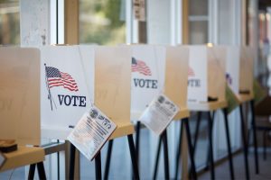
{"type": "Polygon", "coordinates": [[[79,91],[75,80],[68,73],[61,72],[56,67],[45,67],[48,87],[63,86],[70,91],[79,91]]]}

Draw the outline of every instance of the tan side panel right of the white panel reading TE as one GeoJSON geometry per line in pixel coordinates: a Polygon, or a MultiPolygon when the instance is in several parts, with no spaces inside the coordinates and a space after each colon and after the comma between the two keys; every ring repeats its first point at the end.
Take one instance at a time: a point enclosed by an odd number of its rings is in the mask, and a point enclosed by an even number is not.
{"type": "Polygon", "coordinates": [[[208,48],[208,96],[225,100],[226,49],[224,46],[208,48]]]}

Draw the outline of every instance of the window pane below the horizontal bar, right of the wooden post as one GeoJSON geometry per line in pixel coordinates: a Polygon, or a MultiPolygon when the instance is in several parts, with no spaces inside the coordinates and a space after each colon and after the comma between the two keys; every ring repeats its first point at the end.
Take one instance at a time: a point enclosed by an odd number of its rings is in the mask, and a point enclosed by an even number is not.
{"type": "Polygon", "coordinates": [[[190,44],[205,44],[208,42],[208,22],[190,22],[189,23],[190,44]]]}

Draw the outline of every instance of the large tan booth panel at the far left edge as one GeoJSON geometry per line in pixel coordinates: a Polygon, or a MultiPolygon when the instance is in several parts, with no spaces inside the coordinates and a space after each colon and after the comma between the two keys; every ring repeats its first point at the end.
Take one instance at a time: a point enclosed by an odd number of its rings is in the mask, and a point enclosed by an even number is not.
{"type": "Polygon", "coordinates": [[[0,137],[39,145],[40,50],[0,48],[0,137]]]}

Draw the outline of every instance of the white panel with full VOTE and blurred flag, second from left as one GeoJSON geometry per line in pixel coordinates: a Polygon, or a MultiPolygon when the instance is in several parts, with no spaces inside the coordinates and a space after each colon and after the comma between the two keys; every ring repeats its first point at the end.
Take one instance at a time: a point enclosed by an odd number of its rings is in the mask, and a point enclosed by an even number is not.
{"type": "Polygon", "coordinates": [[[164,90],[165,47],[131,45],[131,113],[137,121],[154,96],[164,90]]]}

